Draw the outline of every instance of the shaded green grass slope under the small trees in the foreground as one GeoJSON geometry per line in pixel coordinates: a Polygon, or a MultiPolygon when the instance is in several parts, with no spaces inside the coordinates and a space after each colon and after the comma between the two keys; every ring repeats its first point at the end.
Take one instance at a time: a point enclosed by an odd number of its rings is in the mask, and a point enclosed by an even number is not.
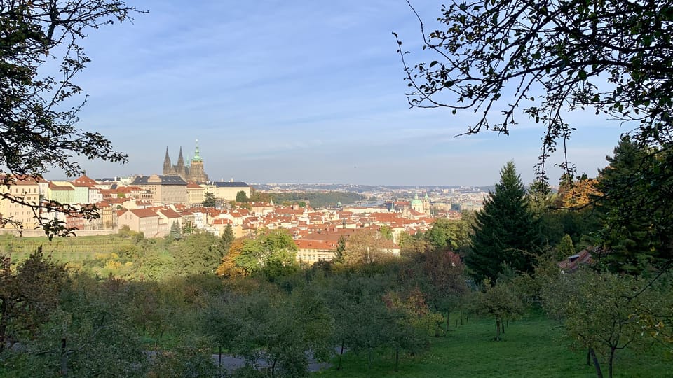
{"type": "MultiPolygon", "coordinates": [[[[596,377],[593,366],[586,365],[585,351],[573,351],[557,323],[543,315],[531,315],[510,321],[503,341],[494,342],[494,321],[471,319],[458,325],[447,337],[433,338],[428,351],[417,356],[400,356],[395,372],[392,351],[375,356],[371,367],[367,356],[346,354],[341,370],[337,359],[318,377],[596,377]]],[[[604,377],[608,367],[603,366],[604,377]]],[[[673,360],[662,348],[648,353],[618,351],[615,377],[673,377],[673,360]]]]}

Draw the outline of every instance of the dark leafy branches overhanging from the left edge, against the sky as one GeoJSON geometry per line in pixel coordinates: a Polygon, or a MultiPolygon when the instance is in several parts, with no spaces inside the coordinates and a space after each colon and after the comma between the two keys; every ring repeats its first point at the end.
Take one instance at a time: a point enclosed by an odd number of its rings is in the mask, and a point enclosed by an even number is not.
{"type": "MultiPolygon", "coordinates": [[[[34,209],[49,237],[72,230],[42,212],[98,218],[97,209],[33,202],[10,188],[18,180],[39,181],[50,169],[83,174],[74,157],[126,162],[101,134],[77,127],[86,97],[79,97],[74,78],[90,62],[83,38],[136,11],[121,0],[0,2],[0,185],[6,188],[0,197],[34,209]]],[[[0,217],[0,223],[15,221],[0,217]]]]}

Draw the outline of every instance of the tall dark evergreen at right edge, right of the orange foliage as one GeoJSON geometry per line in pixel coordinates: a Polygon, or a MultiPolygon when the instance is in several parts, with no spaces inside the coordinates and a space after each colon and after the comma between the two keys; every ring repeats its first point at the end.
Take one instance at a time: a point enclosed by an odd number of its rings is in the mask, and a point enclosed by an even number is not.
{"type": "Polygon", "coordinates": [[[668,159],[668,151],[655,153],[629,137],[606,157],[609,166],[600,171],[603,196],[597,203],[606,251],[601,262],[613,272],[639,274],[673,260],[673,169],[664,163],[668,159]],[[650,180],[644,182],[644,176],[650,180]]]}

